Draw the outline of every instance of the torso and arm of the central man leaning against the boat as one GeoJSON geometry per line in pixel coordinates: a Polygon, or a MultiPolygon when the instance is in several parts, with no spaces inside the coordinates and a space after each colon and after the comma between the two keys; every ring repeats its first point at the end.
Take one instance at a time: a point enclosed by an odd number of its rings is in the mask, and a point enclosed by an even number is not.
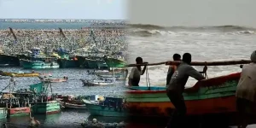
{"type": "Polygon", "coordinates": [[[193,77],[197,80],[204,79],[201,73],[197,72],[194,67],[189,66],[187,63],[181,63],[177,70],[173,73],[170,83],[167,85],[167,90],[177,90],[183,93],[185,84],[188,79],[193,77]]]}

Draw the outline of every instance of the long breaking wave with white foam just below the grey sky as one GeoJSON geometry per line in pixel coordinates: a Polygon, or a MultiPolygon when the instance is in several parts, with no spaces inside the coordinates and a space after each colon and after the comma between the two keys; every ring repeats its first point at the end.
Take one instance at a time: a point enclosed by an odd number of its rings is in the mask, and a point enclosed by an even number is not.
{"type": "Polygon", "coordinates": [[[163,34],[180,34],[181,32],[224,32],[230,35],[255,34],[256,28],[245,26],[155,26],[143,24],[128,24],[131,36],[149,37],[163,34]]]}

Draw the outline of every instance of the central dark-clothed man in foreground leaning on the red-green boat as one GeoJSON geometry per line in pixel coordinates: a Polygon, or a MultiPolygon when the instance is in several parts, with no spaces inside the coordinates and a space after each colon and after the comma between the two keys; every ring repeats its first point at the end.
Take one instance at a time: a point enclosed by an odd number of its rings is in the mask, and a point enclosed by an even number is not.
{"type": "Polygon", "coordinates": [[[169,120],[167,128],[183,127],[182,125],[184,123],[182,121],[185,119],[187,113],[187,108],[183,99],[183,91],[189,76],[197,80],[205,79],[201,73],[190,66],[191,60],[191,55],[189,53],[183,54],[182,62],[172,74],[172,79],[166,86],[167,96],[175,107],[174,113],[172,114],[173,119],[169,120]]]}

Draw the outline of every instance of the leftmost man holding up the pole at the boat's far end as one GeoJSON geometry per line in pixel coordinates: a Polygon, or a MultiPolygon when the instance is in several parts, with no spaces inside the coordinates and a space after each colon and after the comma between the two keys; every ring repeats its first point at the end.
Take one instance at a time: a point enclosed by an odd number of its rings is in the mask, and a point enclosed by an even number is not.
{"type": "MultiPolygon", "coordinates": [[[[136,63],[137,64],[147,64],[148,62],[143,62],[142,57],[137,57],[136,63]]],[[[143,71],[142,71],[141,66],[132,67],[131,73],[129,75],[129,81],[128,81],[129,86],[139,86],[138,84],[140,82],[141,75],[143,75],[145,73],[146,67],[147,66],[144,66],[143,71]]]]}

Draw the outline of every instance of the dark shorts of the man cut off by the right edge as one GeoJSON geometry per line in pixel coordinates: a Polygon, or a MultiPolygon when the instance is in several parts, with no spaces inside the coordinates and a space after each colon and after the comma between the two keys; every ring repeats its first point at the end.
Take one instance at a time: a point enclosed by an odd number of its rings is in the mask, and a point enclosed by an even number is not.
{"type": "Polygon", "coordinates": [[[236,98],[236,109],[239,113],[253,114],[255,113],[255,107],[255,103],[247,99],[236,98]]]}

